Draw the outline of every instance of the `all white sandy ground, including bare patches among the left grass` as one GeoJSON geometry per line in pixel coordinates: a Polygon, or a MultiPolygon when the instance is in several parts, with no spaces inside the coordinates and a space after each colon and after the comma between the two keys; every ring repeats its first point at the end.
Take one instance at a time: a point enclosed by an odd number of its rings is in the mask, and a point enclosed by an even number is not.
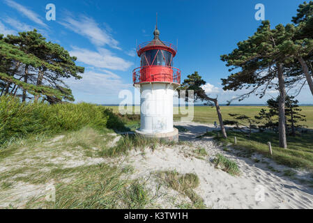
{"type": "MultiPolygon", "coordinates": [[[[211,137],[197,138],[206,130],[213,130],[212,125],[199,123],[174,123],[174,125],[188,129],[188,132],[179,134],[180,140],[189,141],[190,145],[162,146],[154,151],[147,148],[144,153],[130,151],[128,156],[119,157],[116,160],[84,157],[79,148],[75,152],[63,151],[57,157],[50,157],[52,154],[50,154],[49,148],[38,148],[36,156],[45,157],[47,162],[62,164],[63,168],[88,166],[101,162],[112,162],[121,166],[132,165],[134,172],[125,177],[146,180],[146,186],[151,194],[155,195],[156,208],[177,208],[180,203],[190,203],[188,197],[165,187],[165,185],[160,185],[159,180],[153,175],[157,171],[168,170],[176,170],[181,174],[197,174],[200,185],[194,191],[204,199],[208,208],[313,208],[312,187],[303,185],[299,180],[283,176],[282,172],[291,168],[275,164],[262,155],[253,154],[252,157],[245,158],[236,155],[238,151],[231,148],[229,151],[223,151],[222,147],[218,146],[211,137]],[[203,159],[195,157],[194,154],[192,155],[192,151],[196,148],[205,148],[208,155],[203,159]],[[222,153],[225,157],[234,160],[238,164],[241,176],[231,176],[220,169],[215,169],[211,160],[217,153],[222,153]],[[254,158],[265,163],[256,163],[253,161],[254,158]],[[280,172],[270,171],[268,165],[280,172]],[[262,199],[262,194],[264,194],[264,199],[262,199]]],[[[115,135],[116,138],[109,142],[109,146],[114,146],[120,139],[119,135],[115,135]]],[[[62,136],[47,143],[55,145],[60,139],[62,136]]],[[[24,155],[31,157],[22,148],[19,153],[25,153],[24,155]]],[[[1,162],[1,172],[36,162],[35,157],[33,160],[29,158],[29,160],[15,162],[13,158],[17,159],[19,153],[1,162]]],[[[297,171],[296,177],[313,180],[312,173],[305,171],[297,171]]],[[[11,201],[26,203],[31,197],[45,194],[46,188],[47,185],[17,183],[11,190],[3,193],[0,191],[0,208],[7,207],[11,201]]]]}

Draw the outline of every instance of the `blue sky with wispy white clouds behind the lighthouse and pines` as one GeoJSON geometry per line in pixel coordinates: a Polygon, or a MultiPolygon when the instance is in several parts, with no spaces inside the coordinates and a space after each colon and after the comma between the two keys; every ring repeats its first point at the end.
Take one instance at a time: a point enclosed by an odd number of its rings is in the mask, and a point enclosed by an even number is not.
{"type": "MultiPolygon", "coordinates": [[[[0,33],[38,29],[43,36],[77,56],[86,68],[83,79],[67,79],[76,102],[119,104],[119,92],[132,86],[132,70],[139,66],[136,43],[153,38],[155,13],[161,40],[178,43],[174,66],[182,79],[195,70],[204,77],[206,91],[218,95],[221,103],[240,92],[222,91],[221,78],[230,73],[220,55],[231,52],[236,43],[251,36],[261,21],[254,19],[254,6],[265,6],[266,20],[273,25],[287,24],[303,0],[240,1],[43,1],[0,0],[0,33]],[[46,5],[56,6],[56,20],[47,21],[46,5]]],[[[313,103],[305,88],[300,103],[313,103]]],[[[264,103],[250,97],[241,103],[264,103]]]]}

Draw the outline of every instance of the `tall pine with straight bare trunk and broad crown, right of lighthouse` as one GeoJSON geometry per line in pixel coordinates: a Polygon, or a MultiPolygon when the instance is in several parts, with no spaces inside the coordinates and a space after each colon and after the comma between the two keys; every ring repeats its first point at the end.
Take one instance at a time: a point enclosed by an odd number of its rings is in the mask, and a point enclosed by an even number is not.
{"type": "Polygon", "coordinates": [[[259,95],[263,98],[266,91],[273,87],[280,92],[279,141],[282,148],[287,148],[284,115],[286,86],[295,82],[294,77],[288,72],[290,68],[286,66],[291,63],[290,58],[280,51],[287,38],[289,33],[282,24],[271,29],[270,22],[263,21],[253,36],[238,43],[238,48],[231,54],[221,56],[222,61],[226,61],[227,66],[231,67],[229,71],[241,69],[227,79],[222,79],[224,91],[244,88],[248,90],[235,99],[243,100],[250,95],[259,95]]]}

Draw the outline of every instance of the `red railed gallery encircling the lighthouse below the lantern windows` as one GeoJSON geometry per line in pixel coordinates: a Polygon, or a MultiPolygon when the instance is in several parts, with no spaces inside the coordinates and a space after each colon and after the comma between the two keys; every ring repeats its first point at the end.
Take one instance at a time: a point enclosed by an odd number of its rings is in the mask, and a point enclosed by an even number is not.
{"type": "Polygon", "coordinates": [[[169,82],[181,84],[181,70],[169,66],[144,66],[132,71],[134,84],[144,82],[169,82]]]}

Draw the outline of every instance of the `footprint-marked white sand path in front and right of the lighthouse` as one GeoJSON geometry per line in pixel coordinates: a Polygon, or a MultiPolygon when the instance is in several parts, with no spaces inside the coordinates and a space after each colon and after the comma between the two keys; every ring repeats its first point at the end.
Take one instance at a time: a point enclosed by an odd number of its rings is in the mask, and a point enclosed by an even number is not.
{"type": "MultiPolygon", "coordinates": [[[[289,167],[275,164],[272,160],[257,154],[253,154],[251,158],[238,157],[237,151],[223,151],[211,137],[196,138],[206,130],[212,130],[211,125],[199,123],[174,123],[174,125],[189,130],[180,132],[180,140],[190,141],[195,148],[205,148],[208,157],[199,160],[186,155],[190,151],[188,146],[148,150],[144,155],[139,151],[132,151],[128,160],[128,163],[135,167],[135,174],[132,177],[151,178],[151,173],[166,170],[176,170],[181,174],[197,174],[200,185],[195,192],[204,199],[208,208],[313,208],[312,187],[301,185],[298,180],[291,180],[282,173],[270,171],[267,168],[268,164],[255,163],[252,159],[268,162],[278,171],[290,169],[289,167]],[[231,176],[220,169],[215,169],[210,160],[216,153],[222,153],[234,160],[241,170],[241,176],[231,176]]],[[[312,180],[310,178],[312,174],[305,171],[297,171],[297,175],[299,178],[312,180]]],[[[153,178],[150,180],[148,185],[153,191],[157,185],[153,178]]],[[[177,197],[174,192],[170,190],[168,192],[169,197],[177,197]]],[[[169,203],[165,204],[164,198],[160,199],[159,203],[164,208],[174,208],[169,203]]]]}

